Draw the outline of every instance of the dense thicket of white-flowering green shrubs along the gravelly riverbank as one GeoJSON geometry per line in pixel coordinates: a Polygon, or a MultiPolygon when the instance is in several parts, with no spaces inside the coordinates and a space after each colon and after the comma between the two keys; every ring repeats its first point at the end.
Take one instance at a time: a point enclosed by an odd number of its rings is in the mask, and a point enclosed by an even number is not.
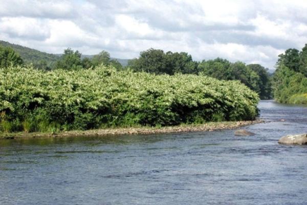
{"type": "Polygon", "coordinates": [[[239,81],[112,66],[50,72],[0,68],[0,129],[57,131],[248,120],[258,96],[239,81]],[[22,73],[22,74],[20,74],[22,73]]]}

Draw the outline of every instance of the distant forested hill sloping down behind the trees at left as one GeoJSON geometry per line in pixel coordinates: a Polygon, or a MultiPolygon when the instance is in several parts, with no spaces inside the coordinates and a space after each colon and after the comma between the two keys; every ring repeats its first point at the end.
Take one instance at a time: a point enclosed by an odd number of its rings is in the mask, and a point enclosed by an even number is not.
{"type": "MultiPolygon", "coordinates": [[[[49,66],[53,65],[56,63],[57,60],[60,59],[62,55],[62,54],[51,54],[51,53],[41,52],[41,51],[38,51],[32,48],[28,48],[25,46],[11,44],[3,40],[0,40],[0,46],[11,47],[17,53],[20,54],[20,56],[25,60],[26,63],[33,63],[34,65],[39,65],[39,61],[41,60],[46,60],[49,66]]],[[[93,56],[94,55],[82,55],[82,58],[83,57],[92,58],[93,56]]],[[[120,58],[112,58],[112,57],[111,59],[117,59],[122,66],[127,66],[128,64],[128,59],[120,59],[120,58]]]]}

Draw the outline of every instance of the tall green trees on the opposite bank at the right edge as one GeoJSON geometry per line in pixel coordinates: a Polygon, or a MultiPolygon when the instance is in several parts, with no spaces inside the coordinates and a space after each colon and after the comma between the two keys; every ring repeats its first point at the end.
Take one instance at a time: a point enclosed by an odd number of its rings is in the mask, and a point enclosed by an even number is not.
{"type": "Polygon", "coordinates": [[[307,44],[278,56],[274,98],[281,103],[307,104],[307,44]]]}

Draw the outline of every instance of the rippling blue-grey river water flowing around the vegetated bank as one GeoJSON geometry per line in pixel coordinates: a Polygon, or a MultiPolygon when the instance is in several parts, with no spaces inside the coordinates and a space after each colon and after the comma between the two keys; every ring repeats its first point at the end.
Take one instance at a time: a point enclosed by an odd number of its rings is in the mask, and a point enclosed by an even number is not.
{"type": "Polygon", "coordinates": [[[307,204],[307,146],[277,143],[307,132],[307,107],[259,109],[249,137],[0,140],[0,204],[307,204]]]}

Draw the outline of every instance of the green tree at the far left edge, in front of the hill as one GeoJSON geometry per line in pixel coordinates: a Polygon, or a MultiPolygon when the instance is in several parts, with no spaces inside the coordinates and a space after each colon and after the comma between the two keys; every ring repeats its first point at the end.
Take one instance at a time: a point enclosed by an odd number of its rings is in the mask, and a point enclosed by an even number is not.
{"type": "Polygon", "coordinates": [[[0,46],[0,67],[23,65],[24,60],[10,47],[0,46]]]}

